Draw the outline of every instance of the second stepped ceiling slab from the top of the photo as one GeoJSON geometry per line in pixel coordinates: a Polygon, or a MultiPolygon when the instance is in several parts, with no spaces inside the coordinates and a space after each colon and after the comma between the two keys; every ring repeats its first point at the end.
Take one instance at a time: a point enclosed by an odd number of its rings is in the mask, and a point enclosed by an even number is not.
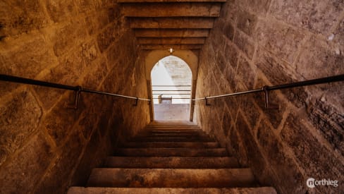
{"type": "Polygon", "coordinates": [[[213,18],[130,18],[130,28],[213,28],[213,18]]]}

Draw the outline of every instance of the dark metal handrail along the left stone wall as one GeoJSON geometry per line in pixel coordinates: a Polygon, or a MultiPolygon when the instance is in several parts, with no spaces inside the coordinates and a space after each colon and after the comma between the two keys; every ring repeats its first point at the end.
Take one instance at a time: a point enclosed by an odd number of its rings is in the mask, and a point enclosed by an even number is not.
{"type": "Polygon", "coordinates": [[[113,93],[109,92],[102,92],[98,90],[90,90],[87,88],[83,88],[80,85],[78,86],[70,86],[70,85],[63,85],[59,83],[50,83],[46,81],[41,81],[41,80],[33,80],[33,79],[28,79],[28,78],[21,78],[13,75],[4,75],[0,74],[0,80],[3,81],[9,81],[13,83],[24,83],[24,84],[29,84],[29,85],[39,85],[39,86],[44,86],[44,87],[54,87],[58,89],[63,89],[63,90],[73,90],[75,92],[87,92],[87,93],[93,93],[93,94],[98,94],[98,95],[108,95],[108,96],[114,96],[114,97],[123,97],[123,98],[128,98],[128,99],[135,99],[137,100],[143,100],[143,101],[151,101],[150,99],[145,99],[145,98],[140,98],[140,97],[130,97],[130,96],[125,96],[125,95],[116,95],[113,93]]]}

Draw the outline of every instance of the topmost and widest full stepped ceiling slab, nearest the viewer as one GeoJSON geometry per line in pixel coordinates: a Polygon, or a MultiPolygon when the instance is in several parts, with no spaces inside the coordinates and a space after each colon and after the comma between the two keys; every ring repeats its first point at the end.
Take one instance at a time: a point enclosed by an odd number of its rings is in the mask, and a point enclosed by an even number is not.
{"type": "Polygon", "coordinates": [[[126,17],[219,17],[220,9],[220,3],[149,3],[121,5],[121,13],[126,17]]]}

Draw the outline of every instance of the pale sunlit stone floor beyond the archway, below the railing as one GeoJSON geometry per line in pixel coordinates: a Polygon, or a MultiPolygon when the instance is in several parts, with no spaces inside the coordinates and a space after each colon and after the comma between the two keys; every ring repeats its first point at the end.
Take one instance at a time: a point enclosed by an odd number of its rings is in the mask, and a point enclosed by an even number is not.
{"type": "Polygon", "coordinates": [[[155,120],[189,120],[190,104],[154,104],[155,120]]]}

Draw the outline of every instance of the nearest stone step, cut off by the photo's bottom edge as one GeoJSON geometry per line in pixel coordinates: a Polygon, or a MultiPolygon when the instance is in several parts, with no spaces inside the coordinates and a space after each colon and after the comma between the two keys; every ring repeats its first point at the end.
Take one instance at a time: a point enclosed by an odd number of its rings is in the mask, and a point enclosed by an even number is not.
{"type": "Polygon", "coordinates": [[[99,187],[71,187],[68,194],[94,194],[94,193],[107,193],[107,194],[276,194],[276,190],[272,187],[259,187],[259,188],[99,188],[99,187]]]}

